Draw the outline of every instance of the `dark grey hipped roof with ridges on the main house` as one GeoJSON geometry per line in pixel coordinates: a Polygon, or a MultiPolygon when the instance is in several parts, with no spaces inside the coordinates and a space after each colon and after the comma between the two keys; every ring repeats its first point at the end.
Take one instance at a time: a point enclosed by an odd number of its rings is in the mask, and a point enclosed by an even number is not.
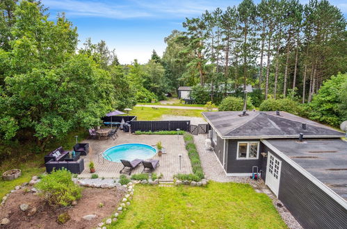
{"type": "Polygon", "coordinates": [[[202,112],[209,124],[222,138],[298,138],[305,137],[343,137],[344,133],[328,126],[318,124],[288,112],[249,111],[240,116],[241,111],[202,112]],[[306,124],[306,129],[302,128],[306,124]]]}

